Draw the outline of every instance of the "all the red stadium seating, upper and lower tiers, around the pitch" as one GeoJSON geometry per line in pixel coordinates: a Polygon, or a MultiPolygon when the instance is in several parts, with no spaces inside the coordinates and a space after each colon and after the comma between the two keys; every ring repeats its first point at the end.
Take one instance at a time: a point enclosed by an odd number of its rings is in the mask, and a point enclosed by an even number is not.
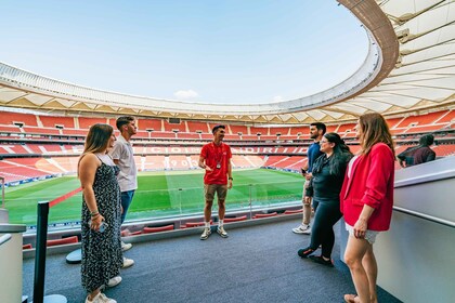
{"type": "MultiPolygon", "coordinates": [[[[140,171],[197,169],[200,147],[212,140],[211,128],[217,123],[177,122],[138,119],[133,150],[140,171]]],[[[388,119],[388,122],[392,134],[396,135],[396,154],[415,145],[422,133],[435,134],[437,145],[432,148],[438,157],[455,154],[454,110],[395,117],[388,119]]],[[[77,157],[83,149],[84,136],[93,123],[109,123],[116,128],[113,117],[3,113],[0,119],[0,175],[8,183],[74,173],[77,157]]],[[[328,124],[327,132],[338,132],[347,140],[351,150],[356,153],[359,145],[354,127],[354,122],[328,124]]],[[[224,140],[233,148],[235,168],[268,167],[296,172],[306,163],[307,148],[311,144],[308,126],[227,124],[224,140]]]]}

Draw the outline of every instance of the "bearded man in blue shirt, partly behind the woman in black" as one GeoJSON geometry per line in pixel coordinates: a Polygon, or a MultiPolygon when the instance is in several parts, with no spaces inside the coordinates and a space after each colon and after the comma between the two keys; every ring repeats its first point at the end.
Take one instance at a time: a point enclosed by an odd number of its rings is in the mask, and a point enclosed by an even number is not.
{"type": "MultiPolygon", "coordinates": [[[[310,183],[311,180],[311,172],[313,170],[313,163],[314,161],[322,155],[320,149],[320,141],[325,134],[326,126],[322,122],[314,122],[310,124],[310,137],[314,140],[314,142],[310,145],[310,147],[307,150],[307,157],[308,157],[308,167],[307,170],[302,169],[302,175],[306,179],[306,183],[303,186],[303,194],[302,194],[302,202],[303,202],[303,218],[302,223],[296,227],[292,228],[292,232],[295,234],[300,235],[310,235],[311,234],[311,227],[310,227],[310,216],[311,216],[311,200],[306,201],[306,188],[307,185],[310,183]]],[[[317,206],[313,205],[313,208],[315,209],[317,206]]]]}

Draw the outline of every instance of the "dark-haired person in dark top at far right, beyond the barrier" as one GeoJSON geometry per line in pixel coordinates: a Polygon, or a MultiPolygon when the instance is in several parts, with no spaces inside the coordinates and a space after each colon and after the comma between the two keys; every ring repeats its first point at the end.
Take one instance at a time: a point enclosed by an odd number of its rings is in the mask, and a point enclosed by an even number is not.
{"type": "Polygon", "coordinates": [[[432,134],[422,135],[418,141],[417,146],[408,147],[396,156],[400,166],[402,168],[407,168],[434,160],[435,153],[430,148],[433,143],[434,136],[432,134]]]}

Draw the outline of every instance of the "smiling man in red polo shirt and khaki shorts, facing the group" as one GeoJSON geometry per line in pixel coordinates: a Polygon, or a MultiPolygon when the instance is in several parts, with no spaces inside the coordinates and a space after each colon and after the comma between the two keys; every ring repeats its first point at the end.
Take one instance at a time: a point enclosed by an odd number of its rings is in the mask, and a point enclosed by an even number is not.
{"type": "Polygon", "coordinates": [[[218,196],[218,216],[219,224],[217,232],[221,237],[227,238],[224,230],[223,221],[225,213],[224,201],[226,199],[227,189],[232,188],[232,166],[231,166],[231,147],[223,143],[225,127],[216,126],[211,130],[213,141],[204,145],[200,150],[199,168],[206,171],[204,175],[204,192],[206,198],[206,207],[204,208],[205,227],[200,235],[202,240],[206,240],[210,232],[211,207],[213,205],[214,193],[218,196]]]}

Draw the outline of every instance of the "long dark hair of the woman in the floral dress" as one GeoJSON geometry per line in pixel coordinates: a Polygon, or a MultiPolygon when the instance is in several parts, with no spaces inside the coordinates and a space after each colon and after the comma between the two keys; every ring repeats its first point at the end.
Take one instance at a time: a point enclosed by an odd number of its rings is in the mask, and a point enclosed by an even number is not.
{"type": "Polygon", "coordinates": [[[83,153],[80,155],[77,162],[77,171],[79,175],[79,163],[80,160],[89,153],[102,153],[107,149],[109,144],[109,139],[113,135],[114,128],[109,124],[96,123],[93,124],[86,137],[86,143],[83,145],[83,153]]]}

